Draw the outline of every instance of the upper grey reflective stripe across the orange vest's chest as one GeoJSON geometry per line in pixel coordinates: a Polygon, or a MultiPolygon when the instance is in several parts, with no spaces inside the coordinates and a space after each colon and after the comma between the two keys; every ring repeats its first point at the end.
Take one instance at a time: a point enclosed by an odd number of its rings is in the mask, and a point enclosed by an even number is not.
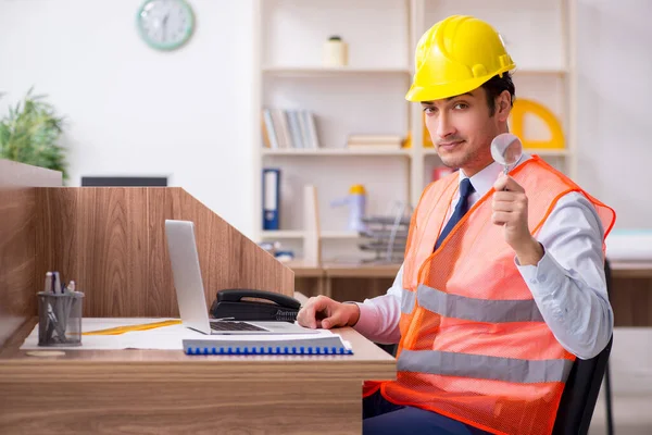
{"type": "MultiPolygon", "coordinates": [[[[414,295],[413,291],[405,291],[414,295]]],[[[414,298],[414,296],[412,296],[414,298]]],[[[418,304],[428,311],[446,318],[472,320],[474,322],[543,322],[543,316],[534,299],[496,300],[477,299],[466,296],[451,295],[419,284],[416,299],[418,304]]],[[[403,296],[403,302],[406,303],[403,296]]],[[[413,301],[414,304],[414,301],[413,301]]],[[[410,311],[403,310],[410,314],[410,311]]]]}

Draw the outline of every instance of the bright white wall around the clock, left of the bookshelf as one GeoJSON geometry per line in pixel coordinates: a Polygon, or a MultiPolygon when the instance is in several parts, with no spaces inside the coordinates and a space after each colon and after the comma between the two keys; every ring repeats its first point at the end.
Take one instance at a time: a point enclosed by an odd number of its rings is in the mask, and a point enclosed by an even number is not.
{"type": "Polygon", "coordinates": [[[138,36],[141,0],[0,0],[0,113],[33,85],[68,119],[68,185],[82,175],[168,175],[253,229],[252,3],[189,0],[175,52],[138,36]]]}

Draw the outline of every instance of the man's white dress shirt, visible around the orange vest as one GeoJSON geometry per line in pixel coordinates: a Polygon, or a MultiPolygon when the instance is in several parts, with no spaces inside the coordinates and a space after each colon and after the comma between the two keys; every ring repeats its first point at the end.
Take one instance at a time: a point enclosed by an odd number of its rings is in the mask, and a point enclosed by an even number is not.
{"type": "MultiPolygon", "coordinates": [[[[524,156],[522,162],[529,159],[524,156]]],[[[475,192],[469,209],[493,187],[502,166],[492,163],[471,177],[475,192]]],[[[460,181],[466,178],[460,171],[460,181]]],[[[526,191],[527,195],[527,191],[526,191]]],[[[460,197],[456,194],[448,215],[460,197]]],[[[442,225],[443,226],[443,225],[442,225]]],[[[602,238],[604,228],[595,209],[579,192],[560,198],[541,226],[537,240],[544,254],[537,265],[514,262],[557,341],[580,359],[590,359],[609,343],[614,316],[606,294],[602,238]]],[[[365,299],[355,326],[377,343],[399,343],[403,266],[386,295],[365,299]]]]}

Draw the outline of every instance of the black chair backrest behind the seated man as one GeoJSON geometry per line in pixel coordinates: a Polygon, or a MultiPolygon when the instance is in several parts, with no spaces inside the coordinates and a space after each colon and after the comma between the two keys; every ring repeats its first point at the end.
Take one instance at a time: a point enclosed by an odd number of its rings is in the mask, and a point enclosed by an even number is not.
{"type": "MultiPolygon", "coordinates": [[[[606,291],[610,294],[611,266],[609,261],[604,263],[604,274],[606,291]]],[[[612,343],[613,336],[597,357],[590,360],[580,360],[579,358],[575,360],[557,409],[552,431],[554,435],[585,435],[589,432],[612,343]]]]}

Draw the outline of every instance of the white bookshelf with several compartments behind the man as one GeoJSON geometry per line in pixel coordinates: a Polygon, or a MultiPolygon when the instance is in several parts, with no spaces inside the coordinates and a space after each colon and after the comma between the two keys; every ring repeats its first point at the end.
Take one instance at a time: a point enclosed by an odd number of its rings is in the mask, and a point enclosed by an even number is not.
{"type": "MultiPolygon", "coordinates": [[[[396,201],[414,207],[432,170],[441,165],[434,148],[422,146],[419,104],[404,100],[421,35],[453,13],[472,14],[494,25],[517,63],[516,99],[544,104],[560,121],[563,149],[529,149],[575,176],[574,0],[256,0],[254,2],[254,204],[261,210],[263,167],[279,167],[279,231],[259,231],[256,241],[280,240],[301,260],[305,184],[316,187],[322,258],[364,257],[348,210],[330,202],[362,184],[367,214],[389,214],[396,201]],[[349,47],[346,66],[324,66],[323,44],[331,35],[349,47]],[[265,108],[310,111],[318,148],[265,148],[261,113],[265,108]],[[353,134],[410,135],[410,148],[348,149],[353,134]]],[[[546,126],[524,120],[528,136],[546,139],[546,126]]],[[[262,228],[262,212],[256,228],[262,228]]]]}

